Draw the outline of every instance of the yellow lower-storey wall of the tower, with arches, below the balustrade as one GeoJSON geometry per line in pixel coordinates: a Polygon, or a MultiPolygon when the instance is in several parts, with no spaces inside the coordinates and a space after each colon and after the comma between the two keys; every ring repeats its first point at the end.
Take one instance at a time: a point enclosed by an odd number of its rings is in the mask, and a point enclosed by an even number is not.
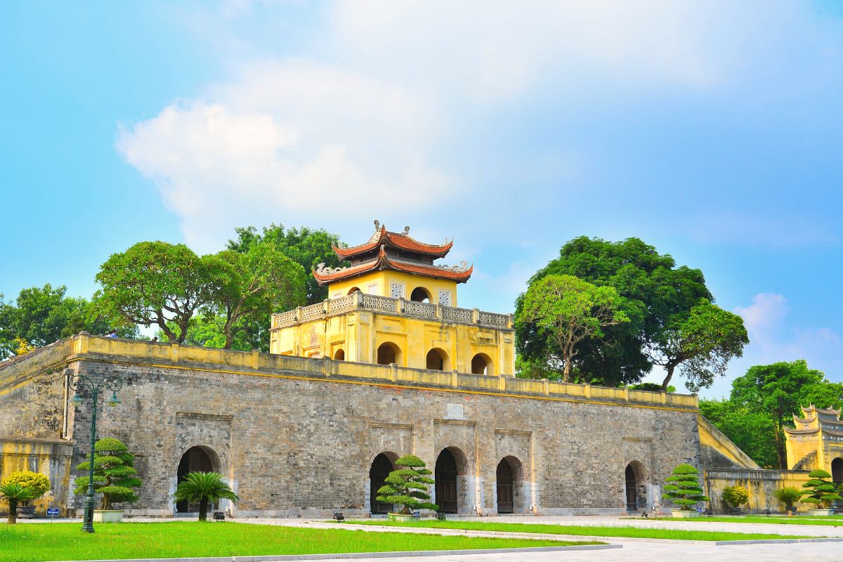
{"type": "Polygon", "coordinates": [[[279,355],[334,358],[342,349],[345,361],[377,362],[380,345],[400,349],[399,367],[427,368],[427,352],[436,348],[447,357],[445,371],[471,372],[471,360],[483,353],[491,359],[487,374],[512,376],[515,371],[512,330],[439,322],[388,313],[355,311],[277,330],[272,352],[279,355]]]}

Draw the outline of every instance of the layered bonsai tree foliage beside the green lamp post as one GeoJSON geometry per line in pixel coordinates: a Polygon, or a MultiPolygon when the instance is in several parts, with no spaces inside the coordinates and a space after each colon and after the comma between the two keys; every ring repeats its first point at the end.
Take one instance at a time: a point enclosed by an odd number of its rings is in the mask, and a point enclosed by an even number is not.
{"type": "MultiPolygon", "coordinates": [[[[141,485],[134,468],[135,456],[128,447],[118,439],[105,437],[94,444],[94,491],[102,494],[99,509],[111,509],[114,503],[131,503],[137,501],[135,488],[141,485]]],[[[77,470],[86,473],[90,468],[89,461],[78,463],[77,470]]],[[[88,493],[88,474],[75,480],[74,494],[88,493]]]]}

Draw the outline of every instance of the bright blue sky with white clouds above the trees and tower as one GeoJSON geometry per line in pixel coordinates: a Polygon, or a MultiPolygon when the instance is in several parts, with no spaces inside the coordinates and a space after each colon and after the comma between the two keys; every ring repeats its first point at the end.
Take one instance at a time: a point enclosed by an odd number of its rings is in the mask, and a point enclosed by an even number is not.
{"type": "Polygon", "coordinates": [[[840,5],[4,3],[0,292],[379,219],[455,238],[460,303],[507,312],[566,240],[638,236],[746,319],[729,377],[843,381],[840,5]]]}

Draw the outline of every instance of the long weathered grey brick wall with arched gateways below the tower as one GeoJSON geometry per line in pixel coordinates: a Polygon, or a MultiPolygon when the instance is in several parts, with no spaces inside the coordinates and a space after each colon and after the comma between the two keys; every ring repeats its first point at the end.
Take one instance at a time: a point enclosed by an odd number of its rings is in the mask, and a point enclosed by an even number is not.
{"type": "MultiPolygon", "coordinates": [[[[379,366],[349,364],[360,371],[351,377],[326,374],[319,360],[286,358],[291,368],[255,368],[264,356],[207,351],[208,361],[185,361],[204,351],[152,345],[141,356],[135,344],[111,340],[94,352],[99,339],[89,340],[74,342],[67,365],[89,377],[126,379],[122,404],[101,407],[97,426],[99,436],[115,436],[137,454],[143,480],[132,506],[137,515],[173,513],[177,468],[191,447],[208,452],[212,468],[230,480],[241,497],[234,510],[240,516],[368,514],[369,468],[381,452],[414,453],[434,468],[447,447],[458,463],[459,511],[483,514],[497,512],[502,458],[514,467],[515,511],[540,515],[624,511],[628,463],[635,463],[641,490],[662,484],[678,463],[700,463],[697,409],[597,398],[617,396],[614,389],[592,387],[584,392],[595,398],[584,399],[446,387],[425,383],[424,372],[417,383],[389,382],[376,376],[385,368],[379,366]]],[[[484,380],[466,380],[475,378],[484,380]]],[[[45,388],[63,403],[62,384],[45,388]]],[[[7,396],[0,395],[3,409],[7,396]]],[[[68,419],[75,465],[88,452],[89,404],[68,419]]],[[[22,423],[20,431],[30,431],[22,423]]],[[[81,507],[82,500],[70,506],[81,507]]]]}

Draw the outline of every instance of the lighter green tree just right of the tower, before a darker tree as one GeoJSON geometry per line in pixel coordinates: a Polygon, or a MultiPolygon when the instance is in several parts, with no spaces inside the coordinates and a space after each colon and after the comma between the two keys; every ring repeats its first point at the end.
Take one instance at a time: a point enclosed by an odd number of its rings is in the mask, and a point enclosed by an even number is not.
{"type": "Polygon", "coordinates": [[[534,324],[539,335],[553,341],[566,383],[573,359],[581,351],[580,342],[598,340],[607,326],[629,322],[613,287],[594,286],[575,276],[542,277],[529,286],[521,304],[517,321],[534,324]]]}

